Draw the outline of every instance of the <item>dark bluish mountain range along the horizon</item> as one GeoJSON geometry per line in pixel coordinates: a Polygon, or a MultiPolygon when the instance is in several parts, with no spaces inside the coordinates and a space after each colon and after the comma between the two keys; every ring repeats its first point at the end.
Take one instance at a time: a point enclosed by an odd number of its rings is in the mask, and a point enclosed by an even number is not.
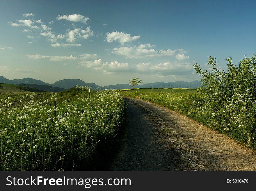
{"type": "MultiPolygon", "coordinates": [[[[9,80],[3,76],[0,76],[0,83],[9,83],[9,84],[18,84],[18,85],[26,85],[28,87],[35,87],[40,90],[51,91],[51,92],[59,92],[65,89],[70,89],[78,86],[89,86],[93,90],[96,89],[129,89],[131,85],[129,84],[115,84],[108,86],[99,86],[95,83],[85,83],[80,79],[64,79],[54,82],[53,84],[45,83],[41,80],[35,80],[33,78],[22,78],[22,79],[13,79],[9,80]],[[43,89],[42,89],[43,88],[43,89]]],[[[201,85],[201,82],[196,80],[193,82],[184,82],[184,81],[176,81],[176,82],[155,82],[155,83],[146,83],[139,86],[134,86],[133,88],[198,88],[201,85]]]]}

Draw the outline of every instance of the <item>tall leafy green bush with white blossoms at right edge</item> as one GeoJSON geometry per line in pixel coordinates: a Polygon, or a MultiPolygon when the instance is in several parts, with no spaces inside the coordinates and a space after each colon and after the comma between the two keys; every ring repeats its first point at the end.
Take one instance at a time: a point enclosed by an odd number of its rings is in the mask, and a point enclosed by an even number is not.
{"type": "Polygon", "coordinates": [[[202,76],[202,86],[198,88],[202,102],[198,112],[216,119],[221,131],[255,147],[256,55],[245,57],[238,66],[232,58],[227,58],[227,72],[216,68],[214,57],[208,59],[211,72],[202,71],[194,64],[194,69],[202,76]]]}

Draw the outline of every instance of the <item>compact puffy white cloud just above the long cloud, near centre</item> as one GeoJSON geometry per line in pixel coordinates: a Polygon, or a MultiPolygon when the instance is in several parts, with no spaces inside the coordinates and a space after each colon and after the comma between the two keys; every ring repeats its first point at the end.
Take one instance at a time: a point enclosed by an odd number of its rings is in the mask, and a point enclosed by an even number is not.
{"type": "Polygon", "coordinates": [[[113,41],[118,41],[121,44],[124,44],[125,42],[131,42],[134,40],[137,40],[140,38],[140,36],[131,36],[130,34],[123,33],[123,32],[112,32],[112,33],[106,33],[106,40],[107,42],[113,42],[113,41]]]}

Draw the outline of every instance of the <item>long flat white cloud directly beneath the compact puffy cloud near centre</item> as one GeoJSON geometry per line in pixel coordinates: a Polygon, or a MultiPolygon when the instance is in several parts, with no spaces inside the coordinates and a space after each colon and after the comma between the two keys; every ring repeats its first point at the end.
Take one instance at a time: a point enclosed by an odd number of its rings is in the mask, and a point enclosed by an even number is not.
{"type": "Polygon", "coordinates": [[[176,50],[160,50],[146,49],[152,47],[151,44],[141,44],[138,47],[120,47],[114,48],[112,53],[122,55],[128,58],[150,58],[161,56],[174,56],[176,50]]]}

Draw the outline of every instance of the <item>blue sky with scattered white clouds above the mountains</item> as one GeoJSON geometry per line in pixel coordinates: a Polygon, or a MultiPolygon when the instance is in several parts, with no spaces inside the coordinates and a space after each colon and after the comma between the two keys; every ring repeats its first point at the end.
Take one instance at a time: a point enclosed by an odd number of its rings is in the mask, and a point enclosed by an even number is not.
{"type": "Polygon", "coordinates": [[[256,54],[256,1],[0,0],[0,76],[191,82],[256,54]]]}

